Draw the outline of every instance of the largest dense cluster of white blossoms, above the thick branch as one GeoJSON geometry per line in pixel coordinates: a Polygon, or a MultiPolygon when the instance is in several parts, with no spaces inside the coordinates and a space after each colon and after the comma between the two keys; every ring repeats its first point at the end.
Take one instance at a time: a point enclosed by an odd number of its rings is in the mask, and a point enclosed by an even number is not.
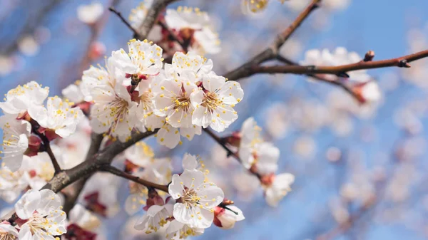
{"type": "Polygon", "coordinates": [[[175,53],[171,64],[162,61],[161,47],[133,39],[128,53],[113,51],[106,68],[92,66],[63,94],[78,105],[92,104],[93,131],[122,142],[133,130],[160,128],[158,142],[173,148],[180,135],[192,140],[208,126],[221,132],[238,118],[233,107],[243,90],[216,75],[213,61],[193,52],[175,53]]]}

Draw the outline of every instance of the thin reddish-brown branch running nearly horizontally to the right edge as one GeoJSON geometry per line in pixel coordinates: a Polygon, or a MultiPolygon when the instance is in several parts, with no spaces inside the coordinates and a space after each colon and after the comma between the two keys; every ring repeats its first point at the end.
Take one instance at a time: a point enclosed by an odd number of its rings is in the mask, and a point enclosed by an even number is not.
{"type": "Polygon", "coordinates": [[[255,73],[295,73],[295,74],[335,74],[346,75],[349,71],[358,71],[372,68],[399,67],[410,68],[409,63],[428,57],[428,50],[413,53],[399,58],[382,61],[360,61],[341,66],[252,66],[248,75],[255,73]]]}

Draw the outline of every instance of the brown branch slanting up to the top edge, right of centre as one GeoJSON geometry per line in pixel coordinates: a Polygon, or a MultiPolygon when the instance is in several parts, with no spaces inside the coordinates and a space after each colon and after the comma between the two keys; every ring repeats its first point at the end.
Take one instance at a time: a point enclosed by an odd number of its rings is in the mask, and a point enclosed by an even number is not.
{"type": "Polygon", "coordinates": [[[247,63],[244,63],[239,68],[236,68],[235,70],[226,73],[224,75],[225,78],[228,78],[229,80],[238,80],[240,78],[245,78],[248,76],[248,70],[252,66],[257,66],[260,63],[275,58],[277,56],[278,49],[282,46],[282,44],[284,44],[285,41],[290,38],[292,33],[294,33],[296,29],[300,26],[300,24],[302,24],[302,22],[307,19],[307,17],[312,13],[312,11],[317,9],[317,7],[320,5],[320,2],[321,0],[312,0],[311,3],[307,5],[307,7],[299,14],[299,16],[297,16],[295,21],[293,21],[292,24],[290,24],[290,26],[285,29],[285,31],[277,35],[275,41],[272,43],[272,46],[266,48],[264,51],[259,53],[247,63]]]}

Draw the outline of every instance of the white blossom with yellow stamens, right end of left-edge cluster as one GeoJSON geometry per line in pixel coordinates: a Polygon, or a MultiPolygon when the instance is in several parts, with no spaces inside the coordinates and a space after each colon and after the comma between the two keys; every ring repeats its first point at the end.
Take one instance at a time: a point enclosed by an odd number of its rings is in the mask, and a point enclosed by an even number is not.
{"type": "Polygon", "coordinates": [[[68,137],[76,131],[78,123],[84,115],[80,108],[72,106],[74,103],[61,100],[58,96],[48,98],[47,108],[34,118],[41,127],[54,130],[60,137],[68,137]]]}

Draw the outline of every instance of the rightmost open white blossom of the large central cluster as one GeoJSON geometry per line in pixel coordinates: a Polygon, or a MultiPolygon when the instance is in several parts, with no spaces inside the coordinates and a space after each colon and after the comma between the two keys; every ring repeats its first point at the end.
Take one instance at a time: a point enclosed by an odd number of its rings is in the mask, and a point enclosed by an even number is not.
{"type": "Polygon", "coordinates": [[[214,72],[203,75],[203,89],[198,88],[190,95],[195,108],[193,124],[204,128],[210,126],[215,131],[223,132],[238,119],[233,107],[243,96],[244,91],[238,82],[226,81],[214,72]]]}

